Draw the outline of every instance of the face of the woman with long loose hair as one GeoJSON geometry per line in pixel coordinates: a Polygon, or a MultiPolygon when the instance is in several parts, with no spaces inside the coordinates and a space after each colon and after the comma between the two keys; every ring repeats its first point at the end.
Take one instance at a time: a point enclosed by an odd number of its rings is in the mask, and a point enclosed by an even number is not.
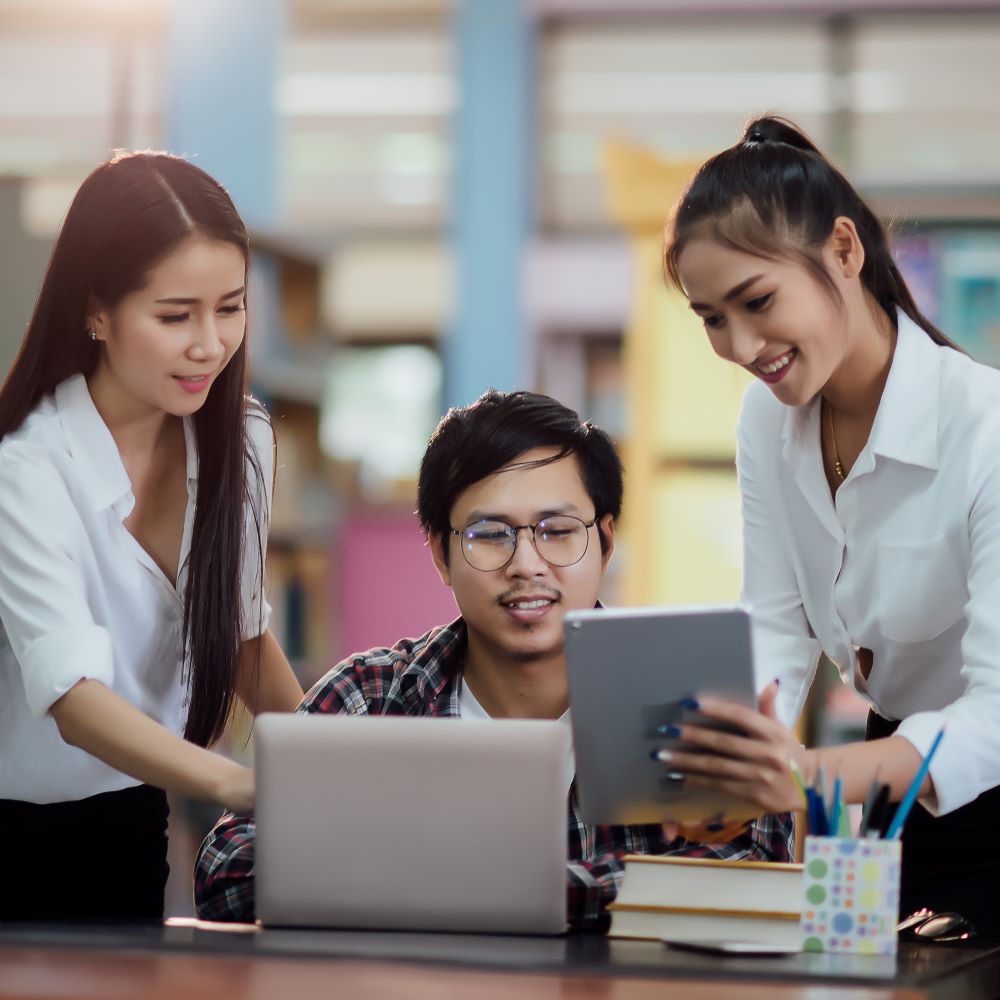
{"type": "Polygon", "coordinates": [[[88,326],[103,344],[91,392],[110,406],[187,416],[243,342],[246,261],[231,243],[184,240],[143,288],[88,326]]]}

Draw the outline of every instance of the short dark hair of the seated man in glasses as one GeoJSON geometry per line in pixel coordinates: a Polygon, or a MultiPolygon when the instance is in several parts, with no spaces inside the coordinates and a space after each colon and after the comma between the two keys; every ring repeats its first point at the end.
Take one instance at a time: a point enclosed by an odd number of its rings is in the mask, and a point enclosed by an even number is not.
{"type": "MultiPolygon", "coordinates": [[[[488,389],[474,403],[452,407],[441,418],[420,463],[417,514],[427,537],[443,543],[446,558],[451,508],[458,497],[533,448],[558,449],[539,465],[573,455],[597,518],[610,514],[618,519],[622,463],[611,438],[551,396],[488,389]]],[[[609,541],[599,534],[606,552],[609,541]]]]}

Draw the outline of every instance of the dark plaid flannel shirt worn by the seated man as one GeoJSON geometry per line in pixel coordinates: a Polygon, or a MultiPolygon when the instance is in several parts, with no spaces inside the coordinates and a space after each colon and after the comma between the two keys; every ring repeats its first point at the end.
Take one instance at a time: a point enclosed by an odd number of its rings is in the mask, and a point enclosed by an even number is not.
{"type": "MultiPolygon", "coordinates": [[[[349,657],[308,692],[298,711],[336,715],[459,713],[466,626],[459,618],[392,649],[349,657]]],[[[252,816],[224,813],[205,838],[195,865],[195,905],[206,920],[254,919],[252,816]]],[[[788,861],[790,814],[763,816],[728,843],[668,841],[659,825],[588,826],[580,818],[576,782],[569,792],[567,919],[572,927],[606,925],[605,907],[618,892],[624,854],[675,854],[723,860],[788,861]]],[[[336,863],[336,859],[331,859],[336,863]]]]}

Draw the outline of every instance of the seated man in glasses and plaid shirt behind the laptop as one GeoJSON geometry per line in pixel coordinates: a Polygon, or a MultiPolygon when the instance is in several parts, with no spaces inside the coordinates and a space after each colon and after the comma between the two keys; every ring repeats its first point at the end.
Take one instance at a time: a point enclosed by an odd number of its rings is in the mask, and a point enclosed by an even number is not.
{"type": "MultiPolygon", "coordinates": [[[[461,617],[419,639],[348,657],[299,711],[568,725],[562,619],[598,603],[621,504],[622,467],[611,440],[555,400],[490,390],[450,410],[424,454],[418,513],[461,617]]],[[[656,825],[588,827],[575,783],[567,794],[567,915],[576,927],[601,920],[626,852],[789,860],[787,815],[701,843],[656,825]]],[[[253,819],[225,814],[195,870],[200,916],[254,918],[253,859],[253,819]]]]}

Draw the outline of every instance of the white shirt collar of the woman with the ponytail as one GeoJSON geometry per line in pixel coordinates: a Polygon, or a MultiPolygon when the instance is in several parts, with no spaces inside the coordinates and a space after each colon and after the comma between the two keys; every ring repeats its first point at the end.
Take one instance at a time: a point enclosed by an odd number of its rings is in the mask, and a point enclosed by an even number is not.
{"type": "MultiPolygon", "coordinates": [[[[869,445],[872,454],[936,469],[940,348],[903,312],[897,313],[896,348],[869,445]]],[[[811,453],[819,439],[819,397],[789,407],[782,431],[786,461],[811,453]]]]}

